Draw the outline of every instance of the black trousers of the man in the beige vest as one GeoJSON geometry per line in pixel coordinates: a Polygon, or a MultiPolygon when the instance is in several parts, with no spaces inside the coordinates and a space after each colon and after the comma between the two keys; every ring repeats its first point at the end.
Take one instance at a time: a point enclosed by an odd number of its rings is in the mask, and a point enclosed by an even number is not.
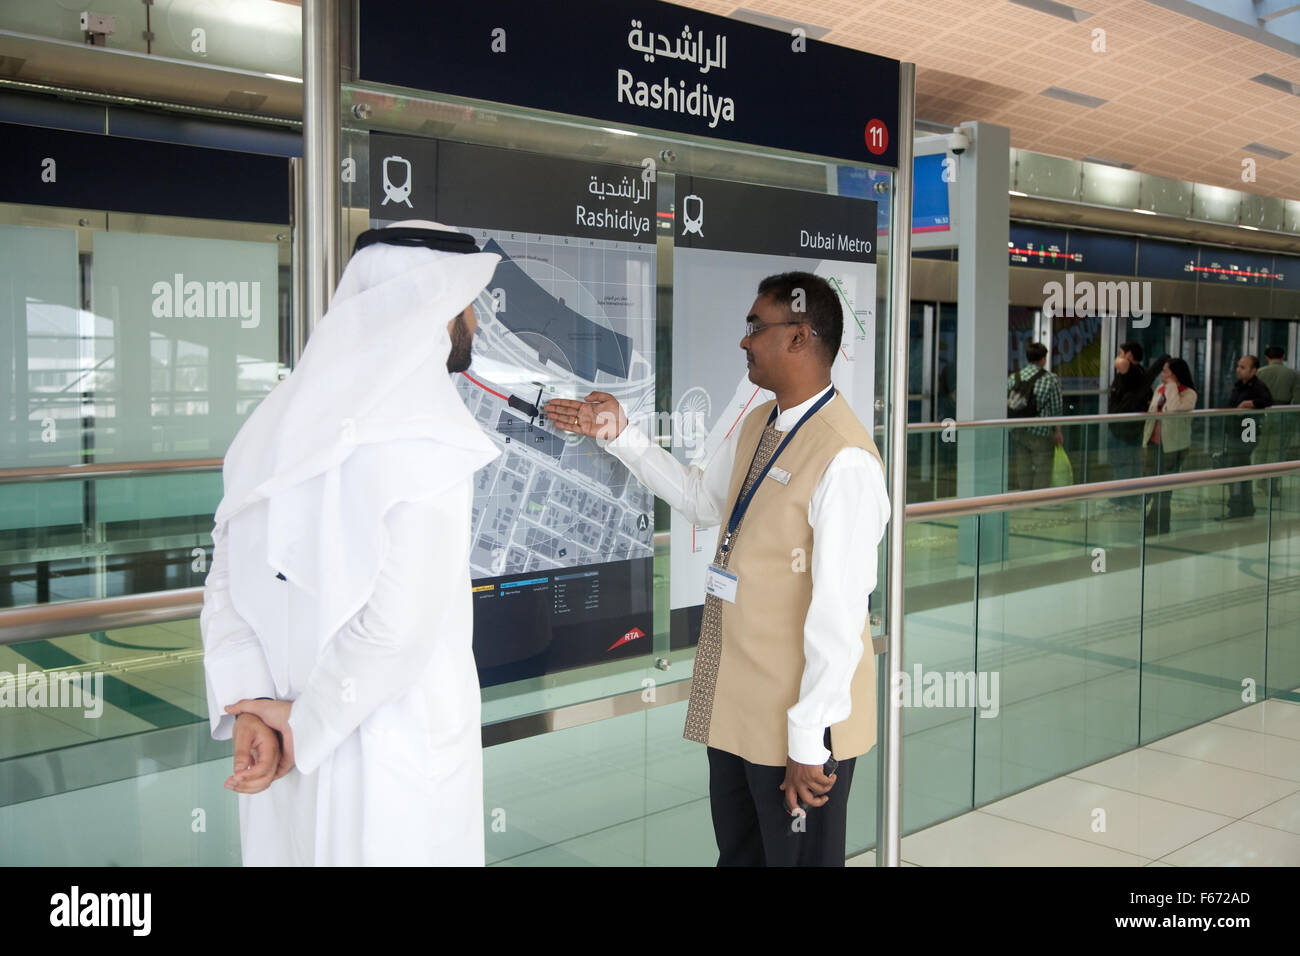
{"type": "MultiPolygon", "coordinates": [[[[827,731],[829,748],[829,731],[827,731]]],[[[857,758],[840,761],[835,787],[807,817],[785,810],[785,767],[708,748],[708,805],[719,866],[844,866],[849,786],[857,758]]]]}

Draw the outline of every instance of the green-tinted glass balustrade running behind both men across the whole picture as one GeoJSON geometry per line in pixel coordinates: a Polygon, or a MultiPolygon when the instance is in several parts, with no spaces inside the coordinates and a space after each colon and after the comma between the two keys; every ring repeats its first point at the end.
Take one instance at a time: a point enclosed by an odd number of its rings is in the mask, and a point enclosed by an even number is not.
{"type": "MultiPolygon", "coordinates": [[[[1227,484],[1169,492],[1164,531],[1147,528],[1157,494],[910,523],[905,832],[1256,700],[1300,700],[1300,477],[1254,492],[1243,520],[1217,520],[1227,484]]],[[[636,678],[584,672],[526,700],[636,678]]],[[[485,723],[524,700],[485,693],[485,723]]],[[[238,861],[196,622],[0,646],[0,701],[5,862],[238,861]]],[[[707,767],[684,713],[679,700],[488,747],[489,862],[711,865],[707,767]]],[[[875,845],[875,754],[854,783],[850,855],[875,845]]]]}

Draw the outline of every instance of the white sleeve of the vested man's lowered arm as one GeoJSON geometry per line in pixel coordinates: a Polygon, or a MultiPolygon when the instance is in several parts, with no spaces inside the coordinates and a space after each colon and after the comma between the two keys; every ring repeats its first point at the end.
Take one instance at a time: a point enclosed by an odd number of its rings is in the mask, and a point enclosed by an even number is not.
{"type": "Polygon", "coordinates": [[[876,551],[889,520],[889,493],[876,458],[842,449],[809,501],[812,600],[803,623],[800,698],[786,711],[788,752],[796,763],[826,763],[826,728],[849,717],[853,675],[864,652],[862,631],[876,587],[876,551]]]}

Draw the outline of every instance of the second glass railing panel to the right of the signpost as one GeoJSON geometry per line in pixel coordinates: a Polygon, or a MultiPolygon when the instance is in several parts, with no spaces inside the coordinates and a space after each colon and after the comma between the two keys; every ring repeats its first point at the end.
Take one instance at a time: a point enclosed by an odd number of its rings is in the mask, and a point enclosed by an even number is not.
{"type": "Polygon", "coordinates": [[[1140,509],[1084,501],[1006,520],[1010,557],[979,568],[975,805],[1138,739],[1140,509]]]}

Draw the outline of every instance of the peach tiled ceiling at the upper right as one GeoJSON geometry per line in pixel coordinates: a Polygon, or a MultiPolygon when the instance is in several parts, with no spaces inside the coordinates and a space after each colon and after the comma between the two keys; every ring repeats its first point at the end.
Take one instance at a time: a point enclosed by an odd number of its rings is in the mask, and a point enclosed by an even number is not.
{"type": "MultiPolygon", "coordinates": [[[[1078,0],[1071,22],[1009,0],[746,0],[744,7],[829,29],[844,47],[916,64],[916,113],[941,124],[1009,126],[1018,148],[1135,168],[1260,195],[1300,198],[1300,98],[1252,83],[1300,83],[1300,60],[1147,0],[1078,0]],[[1106,52],[1092,51],[1105,30],[1106,52]],[[1108,100],[1088,109],[1049,86],[1108,100]],[[1292,155],[1270,160],[1251,142],[1292,155]],[[1242,182],[1242,160],[1257,179],[1242,182]]],[[[684,0],[729,14],[740,4],[684,0]]]]}

